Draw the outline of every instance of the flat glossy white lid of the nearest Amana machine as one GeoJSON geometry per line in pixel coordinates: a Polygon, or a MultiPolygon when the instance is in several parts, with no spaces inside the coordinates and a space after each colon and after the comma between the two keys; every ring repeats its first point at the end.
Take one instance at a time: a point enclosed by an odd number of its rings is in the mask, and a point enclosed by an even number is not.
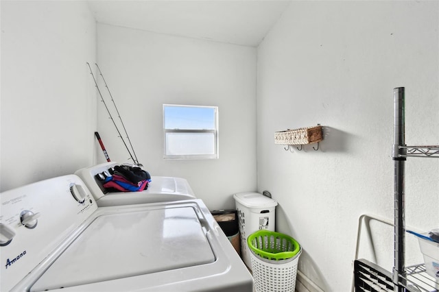
{"type": "Polygon", "coordinates": [[[189,206],[100,215],[31,291],[213,263],[215,255],[189,206]]]}

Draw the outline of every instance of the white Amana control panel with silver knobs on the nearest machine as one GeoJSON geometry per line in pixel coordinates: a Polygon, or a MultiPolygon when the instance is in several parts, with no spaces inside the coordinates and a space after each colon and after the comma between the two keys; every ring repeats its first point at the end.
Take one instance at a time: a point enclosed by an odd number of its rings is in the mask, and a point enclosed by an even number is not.
{"type": "Polygon", "coordinates": [[[12,289],[97,210],[76,175],[5,191],[0,202],[0,291],[12,289]]]}

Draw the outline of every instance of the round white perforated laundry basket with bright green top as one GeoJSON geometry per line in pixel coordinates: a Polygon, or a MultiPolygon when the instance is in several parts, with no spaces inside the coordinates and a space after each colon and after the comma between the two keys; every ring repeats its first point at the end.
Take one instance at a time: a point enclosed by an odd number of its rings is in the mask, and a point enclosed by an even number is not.
{"type": "Polygon", "coordinates": [[[259,230],[248,236],[254,289],[257,292],[294,292],[302,249],[291,236],[259,230]]]}

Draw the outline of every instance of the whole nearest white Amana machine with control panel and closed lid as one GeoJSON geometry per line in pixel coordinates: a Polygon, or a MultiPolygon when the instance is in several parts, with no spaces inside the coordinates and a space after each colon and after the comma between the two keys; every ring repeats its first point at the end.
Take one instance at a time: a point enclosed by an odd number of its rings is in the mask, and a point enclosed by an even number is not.
{"type": "Polygon", "coordinates": [[[64,175],[0,202],[0,291],[252,291],[200,199],[98,208],[64,175]]]}

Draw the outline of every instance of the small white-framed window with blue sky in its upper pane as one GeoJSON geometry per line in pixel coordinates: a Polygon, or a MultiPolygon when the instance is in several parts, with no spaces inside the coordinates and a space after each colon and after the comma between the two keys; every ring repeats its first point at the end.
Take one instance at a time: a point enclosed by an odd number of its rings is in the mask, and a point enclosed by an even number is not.
{"type": "Polygon", "coordinates": [[[166,159],[218,158],[216,106],[163,105],[166,159]]]}

